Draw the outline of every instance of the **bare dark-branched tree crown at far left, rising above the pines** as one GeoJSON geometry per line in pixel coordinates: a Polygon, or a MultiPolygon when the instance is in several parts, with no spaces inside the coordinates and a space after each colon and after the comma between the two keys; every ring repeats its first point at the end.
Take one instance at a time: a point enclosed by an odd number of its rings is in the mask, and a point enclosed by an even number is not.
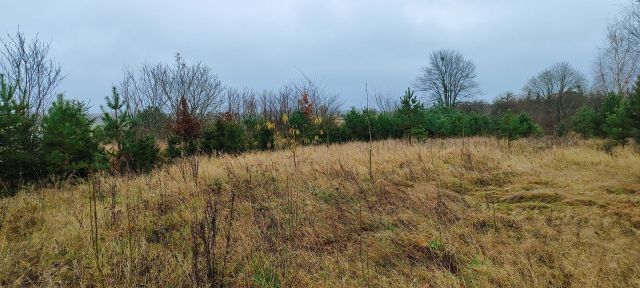
{"type": "Polygon", "coordinates": [[[33,115],[44,114],[65,75],[60,64],[49,57],[50,44],[27,40],[22,32],[0,39],[0,74],[21,91],[20,101],[33,115]]]}

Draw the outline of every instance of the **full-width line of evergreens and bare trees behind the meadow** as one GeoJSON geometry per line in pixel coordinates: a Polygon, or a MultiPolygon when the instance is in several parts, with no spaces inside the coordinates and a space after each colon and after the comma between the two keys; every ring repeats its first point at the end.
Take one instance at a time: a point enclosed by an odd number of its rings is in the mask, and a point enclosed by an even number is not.
{"type": "Polygon", "coordinates": [[[295,157],[300,145],[370,139],[514,140],[575,131],[622,145],[640,142],[639,7],[631,5],[608,28],[590,88],[584,74],[562,62],[533,76],[519,95],[474,101],[480,92],[474,63],[438,50],[413,89],[376,93],[377,109],[347,111],[306,76],[276,91],[233,89],[204,63],[177,54],[171,64],[126,69],[95,118],[85,103],[56,95],[65,75],[48,44],[9,35],[0,39],[0,191],[96,171],[145,173],[196,154],[292,149],[295,157]]]}

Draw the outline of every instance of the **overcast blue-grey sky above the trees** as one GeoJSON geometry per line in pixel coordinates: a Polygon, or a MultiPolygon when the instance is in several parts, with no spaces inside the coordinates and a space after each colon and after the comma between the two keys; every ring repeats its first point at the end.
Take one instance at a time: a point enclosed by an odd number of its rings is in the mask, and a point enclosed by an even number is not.
{"type": "Polygon", "coordinates": [[[2,2],[0,33],[51,41],[62,92],[97,108],[124,67],[176,52],[238,88],[275,89],[302,71],[348,107],[363,105],[365,83],[401,96],[431,51],[452,48],[476,63],[478,98],[491,100],[555,62],[589,75],[625,0],[2,2]]]}

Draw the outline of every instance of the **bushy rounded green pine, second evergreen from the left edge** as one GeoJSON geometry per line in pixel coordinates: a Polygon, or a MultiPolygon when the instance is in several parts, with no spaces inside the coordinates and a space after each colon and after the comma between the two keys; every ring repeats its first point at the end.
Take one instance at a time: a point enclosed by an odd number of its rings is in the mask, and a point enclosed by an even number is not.
{"type": "Polygon", "coordinates": [[[104,167],[97,162],[104,157],[92,126],[93,120],[82,103],[58,96],[42,119],[41,151],[48,173],[84,177],[91,170],[104,167]]]}

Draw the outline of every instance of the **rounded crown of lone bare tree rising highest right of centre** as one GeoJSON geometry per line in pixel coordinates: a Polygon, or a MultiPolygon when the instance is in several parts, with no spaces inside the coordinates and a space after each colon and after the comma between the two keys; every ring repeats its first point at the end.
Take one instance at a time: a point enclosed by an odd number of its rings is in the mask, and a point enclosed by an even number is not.
{"type": "Polygon", "coordinates": [[[455,50],[431,53],[430,64],[423,68],[416,88],[427,93],[435,104],[455,107],[460,101],[480,93],[476,66],[455,50]]]}

